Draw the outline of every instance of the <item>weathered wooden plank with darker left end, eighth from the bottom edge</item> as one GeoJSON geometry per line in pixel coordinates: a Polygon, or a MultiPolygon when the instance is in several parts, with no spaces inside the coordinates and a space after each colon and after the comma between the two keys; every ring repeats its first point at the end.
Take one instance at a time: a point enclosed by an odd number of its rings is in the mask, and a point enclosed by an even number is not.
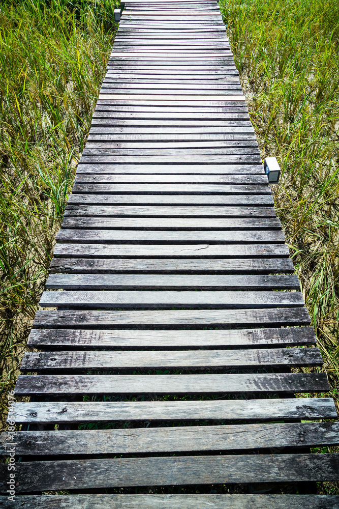
{"type": "MultiPolygon", "coordinates": [[[[61,293],[61,292],[60,292],[61,293]]],[[[34,327],[107,329],[130,325],[277,327],[310,325],[305,307],[274,309],[175,309],[161,311],[37,311],[34,327]]],[[[327,389],[326,389],[327,390],[327,389]]],[[[325,391],[326,392],[326,391],[325,391]]]]}

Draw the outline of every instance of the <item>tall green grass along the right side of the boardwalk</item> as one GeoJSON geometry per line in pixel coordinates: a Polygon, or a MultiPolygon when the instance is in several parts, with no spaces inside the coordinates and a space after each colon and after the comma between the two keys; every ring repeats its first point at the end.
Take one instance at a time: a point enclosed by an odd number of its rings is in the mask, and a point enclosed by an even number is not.
{"type": "Polygon", "coordinates": [[[339,401],[339,4],[221,0],[262,156],[339,401]]]}

